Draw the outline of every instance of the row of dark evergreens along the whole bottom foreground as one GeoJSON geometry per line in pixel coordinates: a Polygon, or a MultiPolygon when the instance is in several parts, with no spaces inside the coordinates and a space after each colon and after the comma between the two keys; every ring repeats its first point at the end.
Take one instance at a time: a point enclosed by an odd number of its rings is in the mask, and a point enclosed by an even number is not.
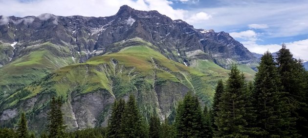
{"type": "MultiPolygon", "coordinates": [[[[212,106],[202,109],[188,92],[177,104],[176,119],[147,122],[133,95],[116,100],[107,127],[66,132],[61,98],[52,98],[48,131],[41,138],[307,138],[308,72],[283,44],[273,57],[265,52],[253,82],[236,65],[218,81],[212,106]]],[[[0,138],[35,138],[22,113],[17,129],[0,129],[0,138]]]]}

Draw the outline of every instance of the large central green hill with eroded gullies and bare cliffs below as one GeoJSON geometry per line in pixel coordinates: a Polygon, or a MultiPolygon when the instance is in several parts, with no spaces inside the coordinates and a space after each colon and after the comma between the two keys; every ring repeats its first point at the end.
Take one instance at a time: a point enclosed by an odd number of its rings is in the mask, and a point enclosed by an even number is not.
{"type": "Polygon", "coordinates": [[[63,97],[69,129],[106,125],[111,104],[118,98],[127,99],[129,93],[136,96],[144,116],[155,110],[170,120],[174,119],[177,101],[189,90],[202,103],[211,103],[216,84],[212,75],[166,58],[141,38],[114,46],[125,48],[58,69],[12,94],[1,105],[0,124],[14,124],[23,110],[34,117],[29,120],[31,129],[42,131],[52,95],[63,97]]]}

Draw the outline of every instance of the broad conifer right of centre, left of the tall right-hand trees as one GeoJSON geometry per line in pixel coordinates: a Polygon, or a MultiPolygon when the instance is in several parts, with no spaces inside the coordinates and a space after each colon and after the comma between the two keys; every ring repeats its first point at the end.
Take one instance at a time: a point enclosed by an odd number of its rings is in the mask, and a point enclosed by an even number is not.
{"type": "Polygon", "coordinates": [[[205,124],[197,96],[188,92],[184,100],[179,102],[176,112],[176,135],[178,138],[207,137],[208,128],[205,124]]]}

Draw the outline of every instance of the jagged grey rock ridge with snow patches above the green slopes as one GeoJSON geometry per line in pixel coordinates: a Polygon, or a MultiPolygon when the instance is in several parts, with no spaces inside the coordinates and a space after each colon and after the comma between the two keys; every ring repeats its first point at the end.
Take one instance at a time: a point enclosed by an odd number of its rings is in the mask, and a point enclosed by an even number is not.
{"type": "MultiPolygon", "coordinates": [[[[0,41],[13,44],[18,42],[13,58],[26,54],[25,47],[43,42],[56,45],[72,45],[72,53],[84,53],[79,61],[107,52],[116,52],[113,43],[134,37],[153,43],[169,59],[187,62],[186,53],[201,50],[208,58],[219,64],[220,59],[230,58],[239,63],[255,62],[256,58],[241,43],[228,33],[195,29],[182,20],[159,14],[157,11],[138,11],[121,6],[116,15],[110,17],[61,17],[43,14],[38,17],[9,17],[7,24],[0,26],[0,41]],[[179,55],[168,54],[178,51],[179,55]]],[[[0,64],[4,65],[7,62],[0,64]]]]}

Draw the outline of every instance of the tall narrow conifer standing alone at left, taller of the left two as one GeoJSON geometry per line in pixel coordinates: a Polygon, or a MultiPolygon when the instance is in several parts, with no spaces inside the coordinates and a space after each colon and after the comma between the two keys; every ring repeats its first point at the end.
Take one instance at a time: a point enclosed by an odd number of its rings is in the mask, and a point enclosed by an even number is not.
{"type": "Polygon", "coordinates": [[[48,131],[49,138],[63,138],[65,136],[65,128],[63,113],[62,113],[62,100],[52,97],[50,101],[50,110],[48,112],[48,131]]]}

